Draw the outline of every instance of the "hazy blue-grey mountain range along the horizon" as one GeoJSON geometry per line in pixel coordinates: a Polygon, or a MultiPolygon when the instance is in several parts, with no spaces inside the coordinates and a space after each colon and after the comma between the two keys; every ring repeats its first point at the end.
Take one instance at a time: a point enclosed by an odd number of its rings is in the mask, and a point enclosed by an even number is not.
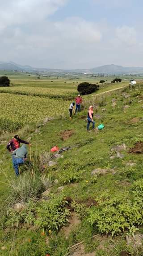
{"type": "Polygon", "coordinates": [[[118,65],[104,65],[91,69],[52,69],[52,68],[37,68],[31,66],[22,66],[14,62],[0,62],[0,70],[8,71],[23,71],[23,72],[64,72],[64,73],[86,73],[86,74],[129,74],[129,73],[143,73],[143,67],[122,67],[118,65]]]}

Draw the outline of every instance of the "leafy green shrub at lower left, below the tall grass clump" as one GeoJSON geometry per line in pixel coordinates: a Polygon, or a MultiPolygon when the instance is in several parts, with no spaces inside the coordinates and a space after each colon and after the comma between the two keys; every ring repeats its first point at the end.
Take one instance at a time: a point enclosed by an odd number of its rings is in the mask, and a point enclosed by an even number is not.
{"type": "Polygon", "coordinates": [[[29,201],[27,207],[22,211],[8,210],[6,226],[19,227],[21,224],[35,225],[39,229],[45,229],[47,233],[59,230],[67,225],[70,210],[67,209],[68,202],[62,196],[53,196],[48,202],[42,201],[37,205],[29,201]]]}

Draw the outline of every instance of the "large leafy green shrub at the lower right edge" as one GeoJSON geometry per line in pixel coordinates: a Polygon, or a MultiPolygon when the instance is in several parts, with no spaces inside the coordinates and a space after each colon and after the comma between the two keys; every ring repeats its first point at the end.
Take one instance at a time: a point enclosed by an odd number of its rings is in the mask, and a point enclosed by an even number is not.
{"type": "Polygon", "coordinates": [[[143,202],[140,198],[130,202],[117,197],[99,202],[99,206],[91,207],[88,214],[88,221],[98,233],[112,236],[124,231],[135,233],[143,225],[143,202]]]}

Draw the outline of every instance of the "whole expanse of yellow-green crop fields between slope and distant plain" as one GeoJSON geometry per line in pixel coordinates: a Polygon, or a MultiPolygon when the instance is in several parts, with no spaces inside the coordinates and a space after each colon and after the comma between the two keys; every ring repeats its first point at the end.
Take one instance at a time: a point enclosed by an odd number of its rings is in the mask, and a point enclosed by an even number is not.
{"type": "MultiPolygon", "coordinates": [[[[9,72],[10,87],[0,87],[0,131],[13,132],[26,124],[36,124],[46,117],[67,117],[68,107],[77,95],[77,85],[88,81],[97,83],[95,78],[57,78],[42,77],[9,72]]],[[[1,74],[2,75],[2,74],[1,74]]],[[[6,75],[6,74],[4,74],[6,75]]],[[[112,77],[108,77],[111,81],[112,77]]],[[[100,85],[97,93],[128,85],[128,81],[120,84],[100,85]]],[[[95,93],[96,94],[96,93],[95,93]]],[[[83,99],[90,99],[91,95],[83,99]]]]}

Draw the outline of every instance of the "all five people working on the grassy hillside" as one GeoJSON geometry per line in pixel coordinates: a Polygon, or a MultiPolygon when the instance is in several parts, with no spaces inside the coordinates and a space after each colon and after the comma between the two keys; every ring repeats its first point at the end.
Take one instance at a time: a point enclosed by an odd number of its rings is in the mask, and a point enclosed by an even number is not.
{"type": "MultiPolygon", "coordinates": [[[[70,119],[72,117],[73,112],[75,114],[77,112],[80,112],[80,106],[83,102],[82,97],[80,97],[80,94],[75,99],[76,101],[76,110],[75,110],[75,102],[72,102],[69,107],[70,112],[70,119]]],[[[95,128],[95,122],[93,121],[93,106],[89,107],[88,115],[87,115],[87,131],[89,131],[90,123],[93,124],[93,129],[95,128]]],[[[11,139],[7,145],[7,149],[10,153],[12,153],[12,161],[13,161],[13,168],[15,171],[15,174],[19,176],[19,166],[23,165],[27,159],[27,146],[31,146],[31,144],[19,137],[19,135],[15,135],[13,139],[11,139]],[[20,148],[20,143],[23,143],[22,147],[20,148]]]]}

